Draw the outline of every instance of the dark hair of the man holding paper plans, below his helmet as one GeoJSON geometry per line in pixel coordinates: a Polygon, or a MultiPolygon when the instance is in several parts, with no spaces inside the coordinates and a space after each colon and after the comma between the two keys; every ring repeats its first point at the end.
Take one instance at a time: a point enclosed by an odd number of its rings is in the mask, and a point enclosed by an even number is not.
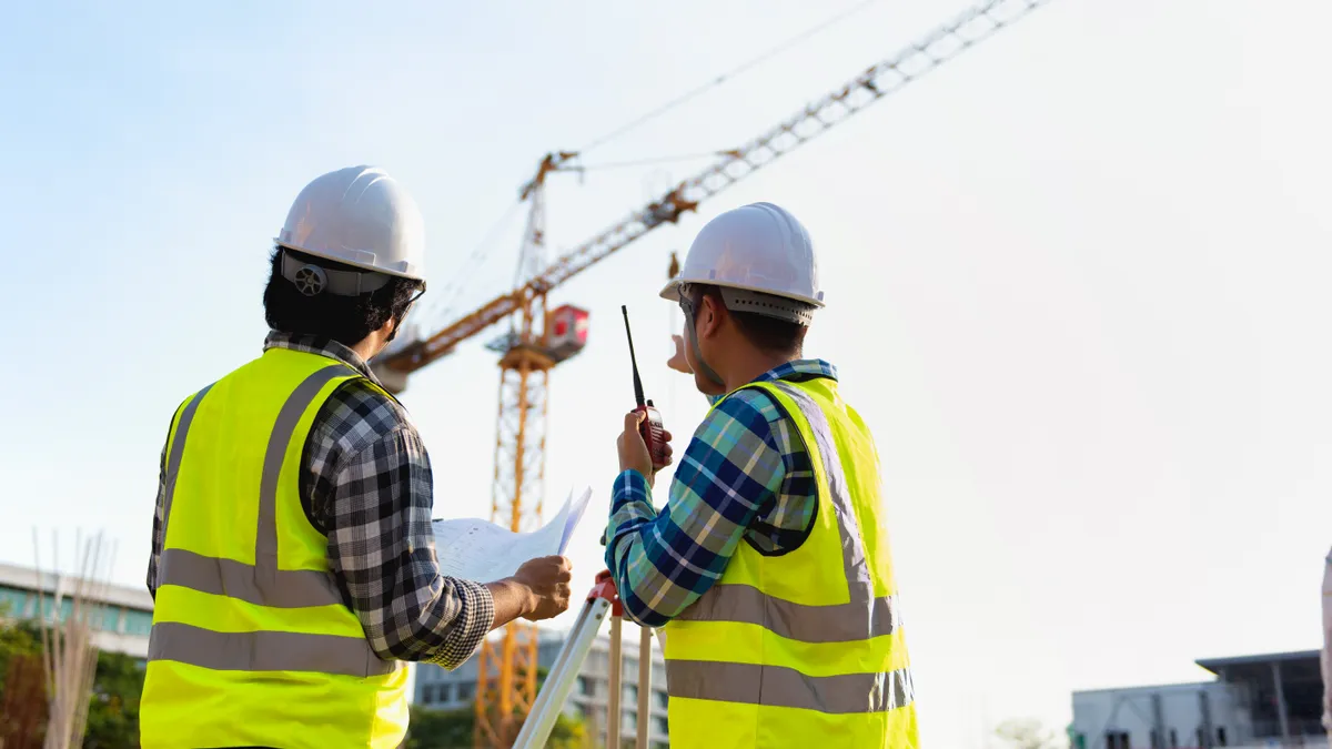
{"type": "Polygon", "coordinates": [[[389,319],[408,313],[421,281],[389,276],[389,283],[360,296],[334,296],[328,292],[305,296],[296,284],[282,277],[282,253],[298,263],[310,263],[325,271],[361,272],[361,268],[314,257],[294,249],[273,248],[272,271],[264,289],[264,319],[268,327],[284,333],[306,333],[332,339],[344,345],[356,345],[389,319]]]}

